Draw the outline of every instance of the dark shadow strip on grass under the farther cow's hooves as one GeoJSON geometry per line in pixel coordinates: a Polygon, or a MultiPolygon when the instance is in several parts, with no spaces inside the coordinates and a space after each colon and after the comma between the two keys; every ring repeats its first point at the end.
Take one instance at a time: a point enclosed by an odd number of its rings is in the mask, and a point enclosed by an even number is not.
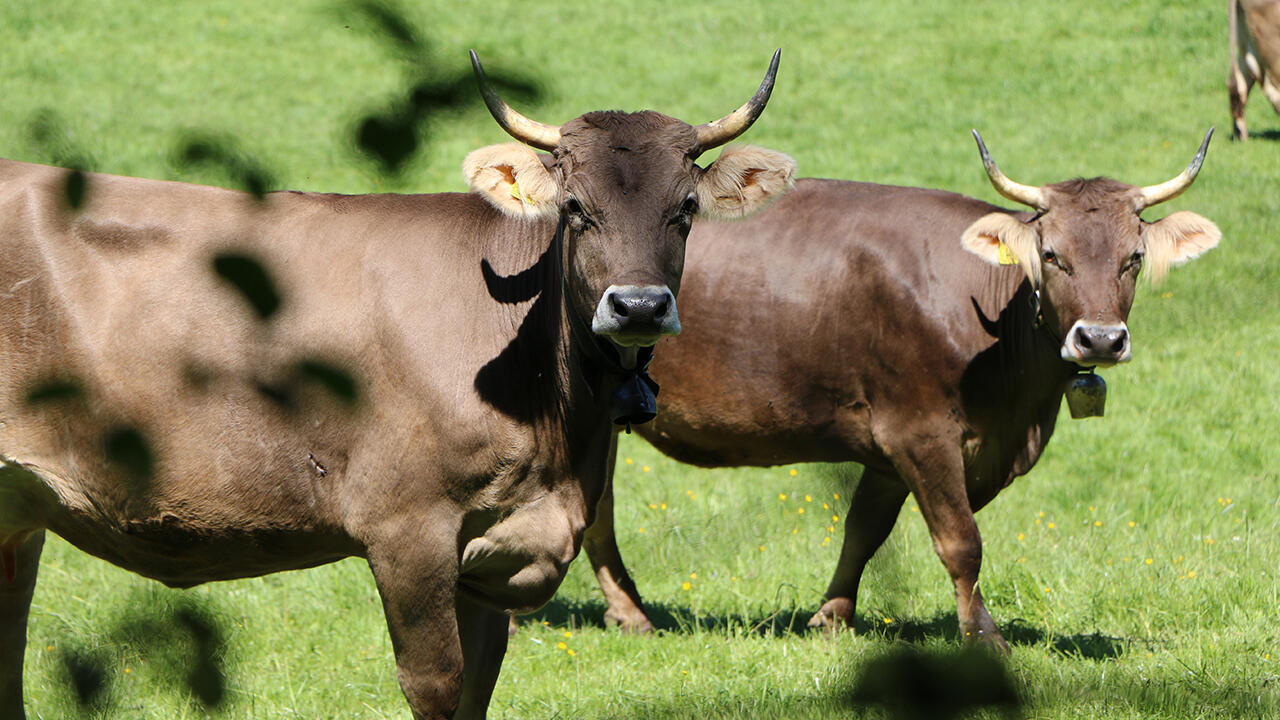
{"type": "MultiPolygon", "coordinates": [[[[576,601],[566,598],[553,598],[549,603],[529,615],[521,615],[518,621],[547,621],[556,626],[594,626],[604,628],[604,611],[607,606],[603,601],[589,600],[576,601]]],[[[703,614],[687,607],[667,603],[646,603],[645,612],[649,621],[659,633],[691,633],[694,630],[737,630],[764,637],[801,635],[806,633],[819,633],[809,628],[809,618],[817,609],[786,607],[768,615],[740,615],[740,614],[703,614]]],[[[860,635],[874,635],[886,641],[923,644],[936,639],[959,642],[960,626],[954,614],[940,614],[927,620],[905,619],[886,624],[879,620],[859,615],[854,621],[854,630],[860,635]]],[[[1082,660],[1114,660],[1120,657],[1128,648],[1129,641],[1101,633],[1076,633],[1071,635],[1057,635],[1042,628],[1030,625],[1023,620],[1012,620],[1005,624],[1000,632],[1010,646],[1034,647],[1051,646],[1064,656],[1079,657],[1082,660]]]]}

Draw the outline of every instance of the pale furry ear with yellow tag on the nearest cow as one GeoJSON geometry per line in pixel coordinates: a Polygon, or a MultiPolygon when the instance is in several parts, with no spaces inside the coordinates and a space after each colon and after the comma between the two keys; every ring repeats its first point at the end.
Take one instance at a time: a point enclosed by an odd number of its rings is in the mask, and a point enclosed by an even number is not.
{"type": "Polygon", "coordinates": [[[462,161],[471,190],[516,218],[552,218],[559,211],[559,186],[526,145],[508,142],[472,150],[462,161]]]}

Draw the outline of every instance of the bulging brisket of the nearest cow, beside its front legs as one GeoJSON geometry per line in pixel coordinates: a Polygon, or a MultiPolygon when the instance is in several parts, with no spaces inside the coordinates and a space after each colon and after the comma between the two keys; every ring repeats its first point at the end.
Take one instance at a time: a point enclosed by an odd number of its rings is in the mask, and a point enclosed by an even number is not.
{"type": "Polygon", "coordinates": [[[547,605],[577,555],[586,523],[548,495],[466,543],[458,584],[466,596],[512,612],[547,605]]]}

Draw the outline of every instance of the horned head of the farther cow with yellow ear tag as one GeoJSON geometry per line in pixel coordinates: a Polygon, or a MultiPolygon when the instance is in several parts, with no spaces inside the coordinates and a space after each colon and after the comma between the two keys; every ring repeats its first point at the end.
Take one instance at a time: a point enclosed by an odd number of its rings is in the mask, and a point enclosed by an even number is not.
{"type": "Polygon", "coordinates": [[[1108,178],[1041,187],[1015,183],[996,168],[973,132],[991,183],[1005,197],[1036,209],[1018,219],[992,213],[964,233],[964,246],[993,264],[1019,264],[1037,292],[1043,322],[1061,340],[1062,359],[1083,366],[1115,365],[1130,357],[1125,320],[1139,272],[1158,281],[1221,240],[1217,225],[1179,211],[1155,222],[1142,211],[1180,195],[1204,161],[1213,129],[1190,165],[1171,181],[1135,187],[1108,178]]]}

